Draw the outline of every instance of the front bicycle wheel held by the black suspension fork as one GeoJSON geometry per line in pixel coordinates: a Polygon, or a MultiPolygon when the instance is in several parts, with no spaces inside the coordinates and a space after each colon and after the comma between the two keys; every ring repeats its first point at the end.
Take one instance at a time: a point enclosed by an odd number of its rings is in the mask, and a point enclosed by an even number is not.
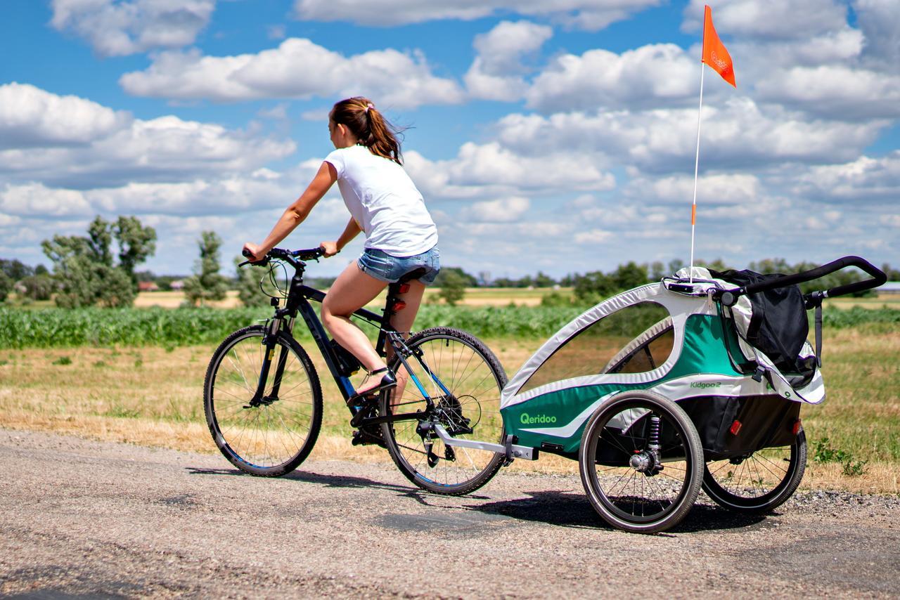
{"type": "Polygon", "coordinates": [[[265,328],[257,325],[221,343],[206,371],[203,408],[212,439],[231,464],[251,475],[278,477],[296,469],[315,445],[322,392],[310,357],[292,337],[279,333],[265,392],[255,399],[265,336],[265,328]]]}

